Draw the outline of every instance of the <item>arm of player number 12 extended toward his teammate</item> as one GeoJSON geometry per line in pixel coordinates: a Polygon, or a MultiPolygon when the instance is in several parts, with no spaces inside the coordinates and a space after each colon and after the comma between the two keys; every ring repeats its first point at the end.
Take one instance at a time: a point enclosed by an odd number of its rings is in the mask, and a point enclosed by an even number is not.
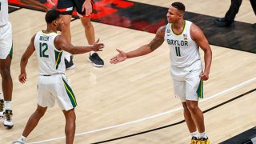
{"type": "Polygon", "coordinates": [[[99,39],[92,46],[73,46],[70,42],[67,42],[66,38],[64,38],[62,35],[58,35],[54,39],[54,46],[58,50],[65,50],[70,54],[83,54],[90,51],[102,51],[102,49],[104,48],[104,44],[98,42],[99,39]]]}

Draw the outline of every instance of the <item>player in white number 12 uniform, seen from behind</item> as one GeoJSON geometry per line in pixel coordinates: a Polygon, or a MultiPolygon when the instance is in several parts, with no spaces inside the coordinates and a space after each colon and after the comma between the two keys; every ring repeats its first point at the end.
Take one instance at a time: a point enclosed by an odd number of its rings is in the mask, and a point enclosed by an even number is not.
{"type": "Polygon", "coordinates": [[[46,113],[47,107],[54,106],[55,100],[62,109],[66,118],[66,143],[74,142],[75,133],[75,113],[77,106],[74,93],[70,88],[65,75],[65,62],[63,51],[70,54],[83,54],[86,52],[102,51],[104,45],[96,42],[93,46],[73,46],[67,42],[66,38],[57,34],[62,30],[62,15],[58,10],[50,10],[46,13],[47,29],[39,31],[30,41],[21,59],[21,74],[18,79],[21,83],[26,82],[26,64],[30,56],[34,53],[38,58],[38,108],[26,123],[25,130],[21,138],[14,143],[24,143],[26,137],[34,127],[37,126],[40,118],[46,113]]]}

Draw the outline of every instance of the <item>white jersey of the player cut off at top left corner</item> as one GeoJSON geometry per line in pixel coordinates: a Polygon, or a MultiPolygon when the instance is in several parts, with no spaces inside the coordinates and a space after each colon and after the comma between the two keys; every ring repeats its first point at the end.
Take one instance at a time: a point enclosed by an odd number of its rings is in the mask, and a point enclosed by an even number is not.
{"type": "Polygon", "coordinates": [[[8,22],[8,0],[0,0],[0,27],[8,22]]]}

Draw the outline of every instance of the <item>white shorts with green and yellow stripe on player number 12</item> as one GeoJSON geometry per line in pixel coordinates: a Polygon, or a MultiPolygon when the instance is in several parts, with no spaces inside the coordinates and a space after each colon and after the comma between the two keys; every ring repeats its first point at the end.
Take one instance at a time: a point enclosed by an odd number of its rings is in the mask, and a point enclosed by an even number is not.
{"type": "Polygon", "coordinates": [[[66,75],[54,74],[38,77],[38,105],[53,107],[55,100],[62,110],[71,110],[77,106],[74,93],[66,75]]]}

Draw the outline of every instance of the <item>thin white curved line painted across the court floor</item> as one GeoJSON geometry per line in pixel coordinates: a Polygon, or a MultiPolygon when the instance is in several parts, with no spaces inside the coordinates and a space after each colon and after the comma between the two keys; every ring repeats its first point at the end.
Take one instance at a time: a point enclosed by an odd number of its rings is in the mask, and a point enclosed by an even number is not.
{"type": "MultiPolygon", "coordinates": [[[[219,92],[218,94],[214,94],[214,95],[210,96],[209,98],[204,98],[203,100],[201,100],[199,102],[205,102],[205,101],[208,101],[208,100],[210,100],[212,98],[216,98],[216,97],[218,97],[218,96],[220,96],[222,94],[227,94],[227,93],[229,93],[232,90],[238,89],[239,87],[242,87],[242,86],[247,85],[247,84],[249,84],[251,82],[254,82],[254,81],[256,81],[256,78],[251,78],[250,80],[247,80],[246,82],[242,82],[242,83],[238,84],[237,86],[230,87],[230,89],[227,89],[227,90],[224,90],[222,92],[219,92]]],[[[146,121],[146,120],[151,119],[151,118],[157,118],[157,117],[160,117],[160,116],[165,115],[165,114],[174,113],[175,111],[178,111],[178,110],[182,110],[182,107],[178,107],[178,108],[175,108],[173,110],[168,110],[168,111],[160,113],[160,114],[155,114],[155,115],[152,115],[152,116],[147,117],[147,118],[140,118],[138,120],[122,123],[122,124],[119,124],[119,125],[104,127],[102,129],[98,129],[98,130],[91,130],[91,131],[75,134],[75,136],[80,136],[80,135],[85,135],[85,134],[92,134],[92,133],[95,133],[95,132],[98,132],[98,131],[110,130],[110,129],[114,129],[116,127],[126,126],[126,125],[130,125],[130,124],[133,124],[133,123],[146,121]]],[[[38,142],[29,142],[27,144],[51,142],[51,141],[56,141],[56,140],[59,140],[59,139],[65,139],[65,136],[58,137],[58,138],[50,138],[50,139],[46,139],[46,140],[42,140],[42,141],[38,141],[38,142]]]]}

